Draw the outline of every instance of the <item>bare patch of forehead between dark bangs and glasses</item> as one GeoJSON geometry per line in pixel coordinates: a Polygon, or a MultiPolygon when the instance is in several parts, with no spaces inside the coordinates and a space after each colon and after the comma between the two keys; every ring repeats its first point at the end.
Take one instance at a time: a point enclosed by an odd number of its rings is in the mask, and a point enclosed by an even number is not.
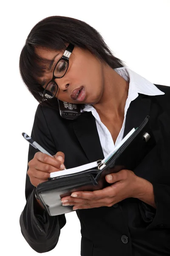
{"type": "Polygon", "coordinates": [[[62,55],[62,51],[49,49],[45,47],[35,47],[35,53],[43,59],[52,60],[56,55],[62,55]]]}

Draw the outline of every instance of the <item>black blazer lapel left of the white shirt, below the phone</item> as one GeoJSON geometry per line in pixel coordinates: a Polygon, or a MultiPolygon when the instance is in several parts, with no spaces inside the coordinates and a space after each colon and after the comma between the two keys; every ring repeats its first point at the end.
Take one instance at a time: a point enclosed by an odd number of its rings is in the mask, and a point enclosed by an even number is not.
{"type": "Polygon", "coordinates": [[[94,162],[104,158],[96,120],[91,112],[83,112],[73,122],[74,132],[88,160],[94,162]]]}

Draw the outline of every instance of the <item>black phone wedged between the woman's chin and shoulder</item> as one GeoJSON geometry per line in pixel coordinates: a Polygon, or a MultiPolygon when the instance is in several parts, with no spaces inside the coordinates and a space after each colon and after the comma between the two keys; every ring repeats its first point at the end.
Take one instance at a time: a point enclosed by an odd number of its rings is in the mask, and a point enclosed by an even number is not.
{"type": "Polygon", "coordinates": [[[80,116],[80,106],[79,104],[73,104],[68,102],[62,102],[58,99],[59,103],[59,113],[60,116],[65,119],[77,119],[80,116]]]}

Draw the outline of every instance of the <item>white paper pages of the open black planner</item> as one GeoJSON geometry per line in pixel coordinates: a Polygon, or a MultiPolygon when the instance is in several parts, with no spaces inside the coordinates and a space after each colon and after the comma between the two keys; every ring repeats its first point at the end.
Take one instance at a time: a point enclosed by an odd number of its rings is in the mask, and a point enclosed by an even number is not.
{"type": "MultiPolygon", "coordinates": [[[[102,160],[102,163],[106,163],[112,156],[113,154],[120,148],[120,146],[125,143],[125,141],[133,134],[133,132],[135,131],[135,128],[133,128],[126,136],[125,138],[123,138],[123,140],[119,143],[119,145],[117,145],[113,151],[111,151],[110,154],[108,154],[107,157],[105,157],[102,160]]],[[[66,169],[66,170],[62,170],[62,171],[58,171],[58,172],[51,172],[50,173],[50,177],[54,178],[54,177],[59,177],[59,176],[63,176],[63,175],[68,175],[68,174],[73,174],[73,173],[77,173],[77,172],[82,172],[85,170],[89,170],[92,168],[96,168],[98,167],[98,163],[97,162],[92,162],[92,163],[87,163],[84,164],[82,166],[77,166],[75,168],[71,168],[71,169],[66,169]]]]}

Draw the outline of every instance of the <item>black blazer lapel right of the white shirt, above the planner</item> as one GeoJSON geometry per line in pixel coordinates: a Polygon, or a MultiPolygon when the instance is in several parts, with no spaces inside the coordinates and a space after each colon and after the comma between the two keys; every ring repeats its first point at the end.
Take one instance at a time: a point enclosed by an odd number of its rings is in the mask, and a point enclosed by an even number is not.
{"type": "Polygon", "coordinates": [[[123,137],[133,128],[139,127],[145,117],[150,114],[151,99],[150,96],[139,94],[139,96],[130,103],[127,110],[125,131],[123,137]]]}

